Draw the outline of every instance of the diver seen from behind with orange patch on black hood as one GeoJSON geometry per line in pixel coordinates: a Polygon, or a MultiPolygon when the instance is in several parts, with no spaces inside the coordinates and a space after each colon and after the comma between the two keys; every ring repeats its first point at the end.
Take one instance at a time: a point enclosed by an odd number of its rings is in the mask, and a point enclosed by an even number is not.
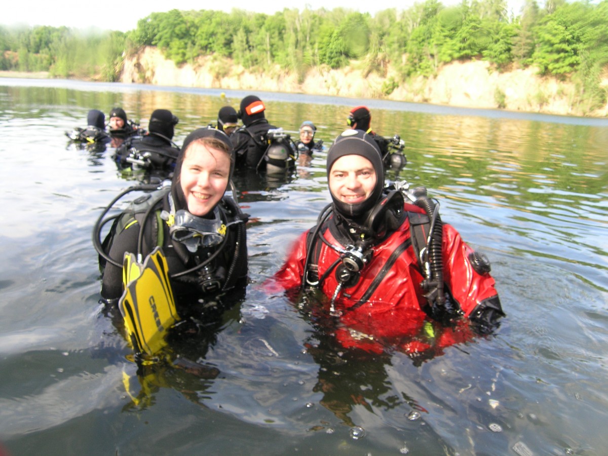
{"type": "Polygon", "coordinates": [[[266,106],[255,95],[241,100],[238,111],[243,126],[231,139],[237,154],[237,170],[254,169],[278,173],[295,166],[295,145],[291,136],[268,123],[264,115],[266,106]]]}

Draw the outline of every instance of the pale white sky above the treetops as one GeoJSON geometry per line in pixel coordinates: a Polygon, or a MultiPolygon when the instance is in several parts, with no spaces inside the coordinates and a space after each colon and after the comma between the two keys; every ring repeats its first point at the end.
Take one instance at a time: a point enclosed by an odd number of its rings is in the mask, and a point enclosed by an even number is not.
{"type": "MultiPolygon", "coordinates": [[[[440,0],[443,5],[458,4],[460,0],[440,0]]],[[[508,0],[510,9],[519,15],[519,7],[523,0],[508,0]]],[[[126,32],[137,27],[137,21],[152,12],[178,10],[223,10],[230,12],[233,8],[272,14],[286,7],[297,8],[300,11],[306,5],[312,10],[325,8],[333,10],[344,7],[362,13],[371,13],[396,7],[404,10],[416,2],[424,0],[309,0],[302,5],[287,5],[278,0],[218,0],[202,2],[200,0],[122,0],[118,2],[95,2],[86,0],[59,0],[47,2],[43,0],[18,0],[7,2],[0,13],[0,24],[11,26],[26,24],[27,26],[67,26],[78,29],[97,27],[102,30],[120,30],[126,32]]]]}

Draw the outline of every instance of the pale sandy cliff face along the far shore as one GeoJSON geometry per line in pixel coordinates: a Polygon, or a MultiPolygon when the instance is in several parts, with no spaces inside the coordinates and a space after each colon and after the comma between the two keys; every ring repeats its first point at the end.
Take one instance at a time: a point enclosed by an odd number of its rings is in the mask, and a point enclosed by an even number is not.
{"type": "MultiPolygon", "coordinates": [[[[389,69],[387,78],[390,75],[389,69]]],[[[576,106],[576,88],[571,82],[541,78],[530,68],[500,73],[485,61],[443,66],[437,76],[416,78],[402,84],[387,96],[382,95],[382,84],[386,78],[375,73],[364,77],[357,62],[339,70],[311,69],[301,79],[302,82],[299,82],[297,75],[278,67],[271,67],[264,74],[258,74],[225,59],[213,57],[201,57],[195,64],[177,67],[173,61],[162,57],[156,47],[146,47],[126,58],[121,78],[124,83],[386,98],[403,102],[503,108],[567,116],[608,116],[608,105],[595,112],[582,112],[576,106]]]]}

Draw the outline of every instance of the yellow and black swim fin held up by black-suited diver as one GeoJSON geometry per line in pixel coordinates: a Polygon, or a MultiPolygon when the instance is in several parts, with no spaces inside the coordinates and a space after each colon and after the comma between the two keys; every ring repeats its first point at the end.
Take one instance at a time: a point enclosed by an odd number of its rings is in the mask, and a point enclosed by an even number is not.
{"type": "Polygon", "coordinates": [[[123,280],[128,282],[118,305],[133,348],[156,354],[166,345],[169,328],[179,320],[161,248],[156,247],[143,264],[126,253],[123,280]]]}

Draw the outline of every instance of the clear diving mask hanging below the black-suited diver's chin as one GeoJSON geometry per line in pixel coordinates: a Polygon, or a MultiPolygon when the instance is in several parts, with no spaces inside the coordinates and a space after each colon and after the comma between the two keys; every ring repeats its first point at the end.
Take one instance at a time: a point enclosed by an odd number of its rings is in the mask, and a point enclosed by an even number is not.
{"type": "Polygon", "coordinates": [[[171,239],[184,244],[188,251],[194,253],[199,247],[221,244],[226,235],[226,224],[219,218],[217,207],[213,210],[212,219],[197,217],[180,209],[173,216],[169,233],[171,239]]]}

